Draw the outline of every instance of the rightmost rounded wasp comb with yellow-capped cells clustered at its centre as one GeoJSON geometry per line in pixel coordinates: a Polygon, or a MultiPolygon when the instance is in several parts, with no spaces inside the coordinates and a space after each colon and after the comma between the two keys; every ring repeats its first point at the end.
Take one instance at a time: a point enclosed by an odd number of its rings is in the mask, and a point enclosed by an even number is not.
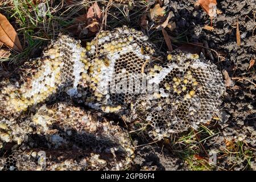
{"type": "MultiPolygon", "coordinates": [[[[149,133],[154,138],[189,127],[196,129],[199,123],[209,121],[221,104],[220,97],[225,92],[221,72],[198,55],[172,52],[164,64],[151,65],[147,72],[152,75],[152,82],[159,82],[159,93],[154,93],[150,104],[159,109],[138,109],[142,114],[137,114],[147,116],[144,119],[151,122],[149,133]]],[[[140,104],[136,107],[143,108],[140,104]]]]}

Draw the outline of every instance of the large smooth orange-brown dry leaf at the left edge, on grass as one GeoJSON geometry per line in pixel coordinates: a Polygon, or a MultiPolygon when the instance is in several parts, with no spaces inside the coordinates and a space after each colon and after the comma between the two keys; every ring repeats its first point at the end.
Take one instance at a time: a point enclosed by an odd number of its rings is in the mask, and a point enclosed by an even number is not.
{"type": "Polygon", "coordinates": [[[22,51],[18,35],[7,18],[0,13],[0,41],[15,51],[22,51]]]}

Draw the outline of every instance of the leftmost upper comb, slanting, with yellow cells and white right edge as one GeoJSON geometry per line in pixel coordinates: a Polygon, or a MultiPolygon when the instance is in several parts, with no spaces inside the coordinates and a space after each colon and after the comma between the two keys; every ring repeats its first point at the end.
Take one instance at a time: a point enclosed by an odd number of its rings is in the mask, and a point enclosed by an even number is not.
{"type": "Polygon", "coordinates": [[[80,73],[84,72],[80,60],[84,59],[81,53],[85,49],[79,43],[69,36],[59,35],[44,50],[42,57],[30,60],[30,66],[24,64],[16,72],[21,75],[19,78],[4,80],[0,100],[6,115],[26,111],[51,98],[54,100],[63,91],[73,94],[70,88],[76,88],[80,73]]]}

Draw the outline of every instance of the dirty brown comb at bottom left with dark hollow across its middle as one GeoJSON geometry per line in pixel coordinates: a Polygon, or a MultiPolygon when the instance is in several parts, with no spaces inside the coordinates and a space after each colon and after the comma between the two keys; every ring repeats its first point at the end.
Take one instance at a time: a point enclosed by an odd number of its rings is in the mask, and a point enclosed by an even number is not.
{"type": "Polygon", "coordinates": [[[133,158],[129,135],[119,126],[64,103],[43,105],[30,118],[31,130],[4,170],[125,169],[133,158]]]}

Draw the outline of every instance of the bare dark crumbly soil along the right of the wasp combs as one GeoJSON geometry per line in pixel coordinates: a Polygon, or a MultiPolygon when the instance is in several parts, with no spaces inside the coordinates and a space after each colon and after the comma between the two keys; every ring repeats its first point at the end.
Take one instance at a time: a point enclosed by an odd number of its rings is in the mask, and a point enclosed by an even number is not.
{"type": "MultiPolygon", "coordinates": [[[[220,110],[220,121],[217,125],[212,122],[208,126],[210,129],[218,130],[218,134],[205,140],[203,147],[207,152],[217,152],[217,167],[212,169],[255,170],[256,67],[254,65],[248,69],[250,60],[256,59],[255,2],[253,0],[217,1],[217,8],[222,13],[213,19],[214,30],[212,31],[203,28],[206,24],[210,25],[210,18],[202,9],[195,10],[194,2],[192,0],[172,0],[167,3],[174,14],[171,20],[176,23],[176,32],[170,34],[174,36],[184,34],[183,36],[189,43],[207,42],[209,48],[218,53],[217,55],[211,51],[213,59],[206,55],[208,59],[217,64],[221,71],[227,71],[230,78],[235,78],[232,80],[232,85],[226,88],[224,102],[220,110]],[[237,46],[236,42],[237,21],[241,34],[241,46],[237,46]],[[227,150],[247,152],[246,155],[250,156],[250,162],[246,160],[249,158],[243,154],[230,154],[227,150]]],[[[175,46],[179,47],[180,44],[173,43],[174,48],[175,46]]],[[[179,136],[177,135],[177,137],[179,136]]],[[[159,151],[158,146],[154,150],[159,151]]],[[[160,152],[159,154],[153,152],[154,150],[142,148],[138,152],[138,160],[135,160],[137,165],[151,164],[152,166],[156,165],[156,169],[167,170],[187,169],[188,164],[179,161],[184,158],[174,157],[179,156],[179,152],[172,150],[171,158],[170,152],[168,154],[160,152]]],[[[199,155],[207,158],[205,154],[199,155]]],[[[197,159],[201,160],[198,157],[197,159]]]]}

